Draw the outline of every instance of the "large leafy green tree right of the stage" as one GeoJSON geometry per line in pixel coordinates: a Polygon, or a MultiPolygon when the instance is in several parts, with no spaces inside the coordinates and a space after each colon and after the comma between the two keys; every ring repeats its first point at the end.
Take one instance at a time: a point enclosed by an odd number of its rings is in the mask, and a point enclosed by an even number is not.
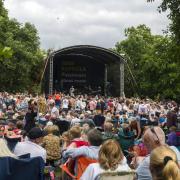
{"type": "MultiPolygon", "coordinates": [[[[134,80],[130,74],[125,78],[125,87],[129,86],[128,79],[136,92],[141,96],[163,98],[179,98],[180,66],[178,61],[179,47],[174,44],[171,37],[152,35],[145,25],[131,27],[125,30],[127,39],[118,42],[115,50],[125,54],[125,59],[131,69],[134,80]],[[176,51],[174,51],[176,49],[176,51]]],[[[127,69],[127,68],[126,68],[127,69]]],[[[131,88],[126,94],[132,95],[131,88]]]]}

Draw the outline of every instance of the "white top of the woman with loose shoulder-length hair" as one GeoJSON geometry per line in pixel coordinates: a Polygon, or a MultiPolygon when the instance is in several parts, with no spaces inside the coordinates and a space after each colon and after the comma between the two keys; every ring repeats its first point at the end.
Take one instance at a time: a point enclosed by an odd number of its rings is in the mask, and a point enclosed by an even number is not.
{"type": "MultiPolygon", "coordinates": [[[[127,164],[126,158],[124,157],[123,161],[121,162],[121,164],[119,164],[118,168],[114,172],[130,171],[130,170],[131,169],[127,164]]],[[[103,172],[111,172],[111,171],[110,170],[106,171],[102,169],[99,163],[92,163],[86,168],[80,180],[95,180],[95,178],[103,172]]]]}

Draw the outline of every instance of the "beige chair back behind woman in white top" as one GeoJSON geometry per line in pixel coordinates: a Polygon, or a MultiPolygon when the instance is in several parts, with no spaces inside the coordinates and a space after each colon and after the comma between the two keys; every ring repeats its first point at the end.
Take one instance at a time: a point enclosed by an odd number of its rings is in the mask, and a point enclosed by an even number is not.
{"type": "Polygon", "coordinates": [[[135,171],[104,172],[99,174],[95,180],[133,180],[135,171]]]}

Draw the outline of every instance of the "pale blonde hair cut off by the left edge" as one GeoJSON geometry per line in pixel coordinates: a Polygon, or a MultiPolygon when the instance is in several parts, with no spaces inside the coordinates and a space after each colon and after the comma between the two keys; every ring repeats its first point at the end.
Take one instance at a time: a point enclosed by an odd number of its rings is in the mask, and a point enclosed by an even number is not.
{"type": "Polygon", "coordinates": [[[16,155],[9,150],[6,141],[0,138],[0,157],[6,157],[6,156],[14,157],[14,158],[16,157],[16,155]]]}

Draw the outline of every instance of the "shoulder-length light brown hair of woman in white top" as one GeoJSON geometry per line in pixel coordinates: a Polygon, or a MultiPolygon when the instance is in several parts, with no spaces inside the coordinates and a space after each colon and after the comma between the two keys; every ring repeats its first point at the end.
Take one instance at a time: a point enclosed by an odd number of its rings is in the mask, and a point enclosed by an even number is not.
{"type": "Polygon", "coordinates": [[[107,140],[99,150],[99,164],[105,170],[115,170],[123,160],[122,150],[115,140],[107,140]]]}

